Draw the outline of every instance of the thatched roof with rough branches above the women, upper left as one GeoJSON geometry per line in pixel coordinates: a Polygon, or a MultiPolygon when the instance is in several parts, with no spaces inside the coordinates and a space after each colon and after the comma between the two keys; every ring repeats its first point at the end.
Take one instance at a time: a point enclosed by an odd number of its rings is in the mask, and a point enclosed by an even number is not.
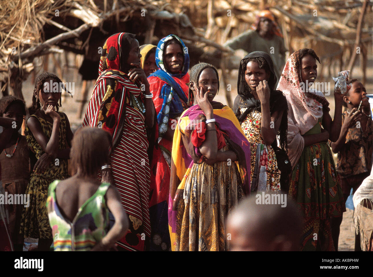
{"type": "Polygon", "coordinates": [[[140,43],[170,33],[204,40],[165,0],[14,0],[1,6],[0,18],[0,82],[13,89],[33,70],[35,57],[63,49],[98,59],[97,47],[116,32],[135,33],[140,43]]]}

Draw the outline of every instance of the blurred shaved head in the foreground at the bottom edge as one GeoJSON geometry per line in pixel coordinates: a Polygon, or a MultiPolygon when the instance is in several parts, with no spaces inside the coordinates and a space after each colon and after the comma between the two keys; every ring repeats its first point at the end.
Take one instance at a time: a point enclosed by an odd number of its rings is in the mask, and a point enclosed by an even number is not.
{"type": "Polygon", "coordinates": [[[256,204],[256,197],[243,200],[227,220],[231,251],[298,251],[302,217],[296,205],[256,204]]]}

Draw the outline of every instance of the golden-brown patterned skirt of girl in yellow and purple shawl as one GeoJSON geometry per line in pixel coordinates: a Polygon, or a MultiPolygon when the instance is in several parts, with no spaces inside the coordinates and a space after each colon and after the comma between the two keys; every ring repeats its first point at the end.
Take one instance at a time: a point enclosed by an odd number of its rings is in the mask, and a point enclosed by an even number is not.
{"type": "Polygon", "coordinates": [[[228,251],[225,219],[244,197],[236,164],[194,164],[177,209],[176,251],[228,251]]]}

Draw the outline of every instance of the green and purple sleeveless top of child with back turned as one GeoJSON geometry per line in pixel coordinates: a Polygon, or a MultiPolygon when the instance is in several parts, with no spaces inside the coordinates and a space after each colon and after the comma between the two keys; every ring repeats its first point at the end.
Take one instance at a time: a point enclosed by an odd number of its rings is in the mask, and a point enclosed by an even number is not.
{"type": "Polygon", "coordinates": [[[56,201],[59,182],[60,180],[55,180],[50,184],[47,199],[54,251],[90,251],[109,230],[109,208],[104,196],[110,184],[101,183],[70,222],[62,215],[56,201]]]}

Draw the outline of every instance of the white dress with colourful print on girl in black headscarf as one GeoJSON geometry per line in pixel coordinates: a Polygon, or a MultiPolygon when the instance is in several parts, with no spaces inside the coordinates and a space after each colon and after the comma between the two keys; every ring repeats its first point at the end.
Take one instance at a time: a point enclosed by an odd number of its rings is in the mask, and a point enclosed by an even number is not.
{"type": "MultiPolygon", "coordinates": [[[[244,113],[246,108],[240,108],[244,113]]],[[[261,136],[261,112],[253,110],[241,124],[242,131],[250,142],[251,191],[280,192],[280,173],[272,146],[264,144],[261,136]],[[256,188],[256,189],[255,189],[256,188]]]]}

